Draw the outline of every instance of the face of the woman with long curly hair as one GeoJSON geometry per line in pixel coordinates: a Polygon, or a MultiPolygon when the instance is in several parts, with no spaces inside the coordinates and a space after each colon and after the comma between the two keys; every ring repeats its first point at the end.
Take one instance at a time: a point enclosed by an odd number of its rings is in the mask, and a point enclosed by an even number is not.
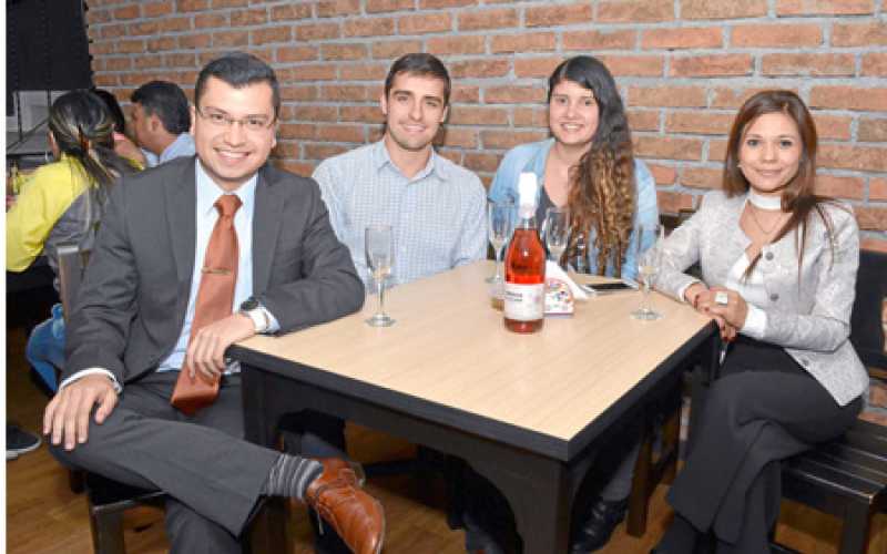
{"type": "Polygon", "coordinates": [[[599,116],[592,91],[568,79],[554,85],[548,104],[548,124],[558,142],[567,146],[591,144],[599,116]]]}

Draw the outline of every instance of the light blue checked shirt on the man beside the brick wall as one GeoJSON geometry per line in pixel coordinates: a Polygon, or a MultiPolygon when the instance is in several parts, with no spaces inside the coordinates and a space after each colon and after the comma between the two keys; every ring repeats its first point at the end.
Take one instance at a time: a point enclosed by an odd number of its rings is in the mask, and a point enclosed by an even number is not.
{"type": "Polygon", "coordinates": [[[364,229],[390,225],[392,284],[405,284],[487,255],[486,193],[472,172],[436,152],[412,178],[398,170],[384,141],[324,161],[314,172],[329,220],[369,284],[364,229]]]}

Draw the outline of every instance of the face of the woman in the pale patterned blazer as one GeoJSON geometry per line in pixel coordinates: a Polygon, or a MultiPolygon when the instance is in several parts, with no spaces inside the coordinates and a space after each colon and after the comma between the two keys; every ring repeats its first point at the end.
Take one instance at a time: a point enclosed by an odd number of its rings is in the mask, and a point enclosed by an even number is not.
{"type": "Polygon", "coordinates": [[[782,112],[754,120],[740,144],[740,170],[756,193],[779,195],[801,164],[802,142],[794,120],[782,112]]]}

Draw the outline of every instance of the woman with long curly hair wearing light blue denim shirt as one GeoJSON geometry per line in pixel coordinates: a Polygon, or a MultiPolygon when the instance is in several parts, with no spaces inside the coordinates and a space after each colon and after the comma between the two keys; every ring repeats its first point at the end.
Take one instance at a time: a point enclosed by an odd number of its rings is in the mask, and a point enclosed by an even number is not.
{"type": "Polygon", "coordinates": [[[548,104],[552,136],[510,150],[489,197],[517,205],[518,176],[534,173],[541,184],[537,222],[544,222],[551,206],[570,209],[565,256],[574,269],[634,279],[638,227],[644,229],[641,252],[656,238],[656,185],[646,165],[632,155],[613,76],[592,57],[571,58],[549,78],[548,104]]]}

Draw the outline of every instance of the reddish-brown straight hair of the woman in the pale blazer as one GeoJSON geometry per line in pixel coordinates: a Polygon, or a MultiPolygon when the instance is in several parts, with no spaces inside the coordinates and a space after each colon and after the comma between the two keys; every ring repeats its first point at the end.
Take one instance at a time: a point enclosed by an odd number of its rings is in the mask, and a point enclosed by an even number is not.
{"type": "MultiPolygon", "coordinates": [[[[783,225],[773,242],[779,240],[787,233],[801,229],[797,234],[798,250],[798,275],[804,261],[804,247],[807,240],[807,218],[810,213],[816,212],[826,226],[828,239],[834,255],[834,227],[832,219],[824,209],[825,204],[837,205],[834,199],[827,196],[817,195],[814,192],[816,185],[816,150],[817,134],[816,125],[809,110],[804,101],[792,91],[762,91],[753,95],[740,107],[733,127],[730,130],[727,141],[727,153],[724,162],[724,176],[722,187],[727,196],[737,196],[748,192],[751,184],[740,167],[740,148],[745,137],[745,133],[758,117],[768,113],[782,113],[797,126],[801,136],[801,161],[795,176],[789,181],[782,193],[782,209],[792,214],[783,225]]],[[[752,260],[746,276],[751,275],[754,267],[761,259],[761,253],[752,260]]]]}

